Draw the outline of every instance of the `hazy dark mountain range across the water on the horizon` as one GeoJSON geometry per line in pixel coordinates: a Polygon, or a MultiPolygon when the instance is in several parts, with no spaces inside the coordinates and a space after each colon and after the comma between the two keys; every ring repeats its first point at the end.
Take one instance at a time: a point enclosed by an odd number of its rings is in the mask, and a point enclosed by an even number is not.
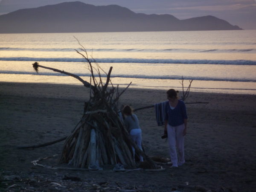
{"type": "Polygon", "coordinates": [[[0,33],[240,30],[214,16],[179,20],[117,6],[66,2],[0,15],[0,33]]]}

